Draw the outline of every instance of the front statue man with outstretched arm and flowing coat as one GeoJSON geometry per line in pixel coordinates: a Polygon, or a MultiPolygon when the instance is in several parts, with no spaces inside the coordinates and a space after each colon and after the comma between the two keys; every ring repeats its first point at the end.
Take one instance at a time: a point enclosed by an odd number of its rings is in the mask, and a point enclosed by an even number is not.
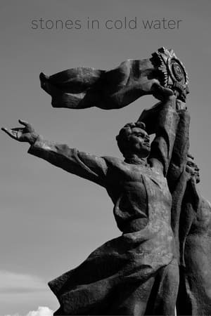
{"type": "Polygon", "coordinates": [[[174,315],[179,271],[166,175],[179,115],[177,98],[167,90],[154,107],[151,145],[141,121],[120,130],[117,144],[124,160],[49,142],[22,120],[23,128],[3,129],[11,138],[30,143],[30,154],[105,187],[122,232],[77,268],[49,282],[60,302],[54,315],[174,315]]]}

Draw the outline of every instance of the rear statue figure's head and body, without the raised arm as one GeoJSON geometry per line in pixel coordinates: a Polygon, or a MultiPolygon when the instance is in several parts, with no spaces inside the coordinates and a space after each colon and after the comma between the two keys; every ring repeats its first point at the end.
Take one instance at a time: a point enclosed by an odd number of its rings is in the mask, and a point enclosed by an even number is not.
{"type": "Polygon", "coordinates": [[[184,178],[177,315],[211,315],[211,205],[198,191],[199,169],[191,155],[184,178]]]}

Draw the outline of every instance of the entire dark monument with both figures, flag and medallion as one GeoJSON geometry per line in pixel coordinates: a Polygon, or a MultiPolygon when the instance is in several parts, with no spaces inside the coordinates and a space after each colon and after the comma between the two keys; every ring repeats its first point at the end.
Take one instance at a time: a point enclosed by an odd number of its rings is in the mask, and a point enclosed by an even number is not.
{"type": "Polygon", "coordinates": [[[148,94],[160,100],[120,130],[123,159],[50,142],[23,120],[23,127],[3,128],[29,143],[30,154],[105,187],[114,204],[120,237],[49,282],[60,303],[54,315],[174,315],[176,306],[177,315],[210,315],[210,204],[198,192],[198,168],[188,154],[184,65],[160,48],[114,70],[79,67],[41,73],[40,80],[53,107],[120,109],[148,94]]]}

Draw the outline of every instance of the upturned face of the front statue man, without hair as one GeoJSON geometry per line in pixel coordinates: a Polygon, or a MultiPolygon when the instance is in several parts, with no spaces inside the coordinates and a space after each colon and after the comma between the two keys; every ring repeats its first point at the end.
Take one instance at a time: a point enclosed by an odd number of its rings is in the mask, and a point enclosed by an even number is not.
{"type": "Polygon", "coordinates": [[[139,127],[133,127],[129,135],[130,149],[134,154],[141,154],[141,157],[147,157],[151,151],[150,137],[148,133],[139,127]]]}

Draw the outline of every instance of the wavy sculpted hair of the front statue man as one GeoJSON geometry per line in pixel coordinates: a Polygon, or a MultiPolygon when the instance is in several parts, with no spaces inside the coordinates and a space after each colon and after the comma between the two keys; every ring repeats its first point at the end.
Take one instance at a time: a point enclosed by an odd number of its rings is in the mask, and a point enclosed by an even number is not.
{"type": "Polygon", "coordinates": [[[117,145],[122,152],[123,156],[125,157],[126,152],[128,150],[128,140],[129,136],[132,133],[132,129],[134,127],[139,127],[139,129],[143,129],[146,131],[146,126],[143,121],[136,121],[136,123],[127,123],[120,129],[119,135],[116,136],[117,145]]]}

